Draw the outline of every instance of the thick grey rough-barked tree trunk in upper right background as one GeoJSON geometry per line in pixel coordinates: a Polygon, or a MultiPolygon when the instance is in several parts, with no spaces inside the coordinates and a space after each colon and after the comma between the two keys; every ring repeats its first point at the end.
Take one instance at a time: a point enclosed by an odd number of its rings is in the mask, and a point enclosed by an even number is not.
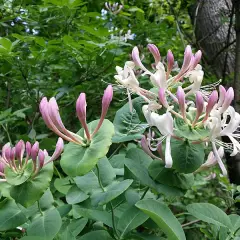
{"type": "Polygon", "coordinates": [[[190,10],[196,44],[218,78],[225,78],[234,71],[232,6],[231,0],[197,0],[190,10]]]}

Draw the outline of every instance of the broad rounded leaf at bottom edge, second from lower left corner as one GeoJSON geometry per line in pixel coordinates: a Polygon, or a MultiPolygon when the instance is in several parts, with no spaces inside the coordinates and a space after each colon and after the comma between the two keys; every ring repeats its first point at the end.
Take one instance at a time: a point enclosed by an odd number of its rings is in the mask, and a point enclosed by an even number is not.
{"type": "Polygon", "coordinates": [[[27,235],[51,240],[57,235],[61,225],[62,219],[58,210],[50,209],[32,221],[27,228],[27,235]]]}

